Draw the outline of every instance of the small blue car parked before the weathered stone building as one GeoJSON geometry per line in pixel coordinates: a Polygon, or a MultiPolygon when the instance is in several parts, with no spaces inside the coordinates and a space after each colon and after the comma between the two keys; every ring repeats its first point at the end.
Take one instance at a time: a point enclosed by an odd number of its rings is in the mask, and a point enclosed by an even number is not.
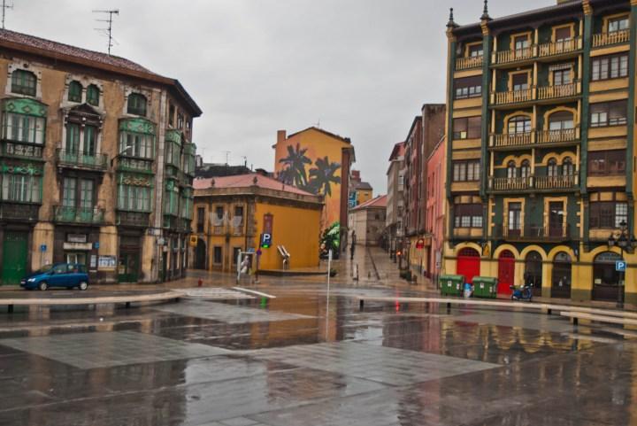
{"type": "Polygon", "coordinates": [[[27,290],[47,290],[50,287],[88,289],[86,266],[80,263],[55,263],[44,265],[31,275],[23,278],[20,286],[27,290]]]}

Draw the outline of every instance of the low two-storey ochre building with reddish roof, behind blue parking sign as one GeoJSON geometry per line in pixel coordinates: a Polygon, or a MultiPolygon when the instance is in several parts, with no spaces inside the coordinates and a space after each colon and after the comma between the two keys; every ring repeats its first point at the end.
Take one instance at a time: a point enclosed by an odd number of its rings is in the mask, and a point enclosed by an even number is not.
{"type": "Polygon", "coordinates": [[[262,174],[196,179],[192,266],[231,272],[239,252],[257,252],[261,235],[272,236],[262,248],[260,269],[281,269],[278,246],[290,254],[289,267],[319,266],[323,198],[262,174]]]}

